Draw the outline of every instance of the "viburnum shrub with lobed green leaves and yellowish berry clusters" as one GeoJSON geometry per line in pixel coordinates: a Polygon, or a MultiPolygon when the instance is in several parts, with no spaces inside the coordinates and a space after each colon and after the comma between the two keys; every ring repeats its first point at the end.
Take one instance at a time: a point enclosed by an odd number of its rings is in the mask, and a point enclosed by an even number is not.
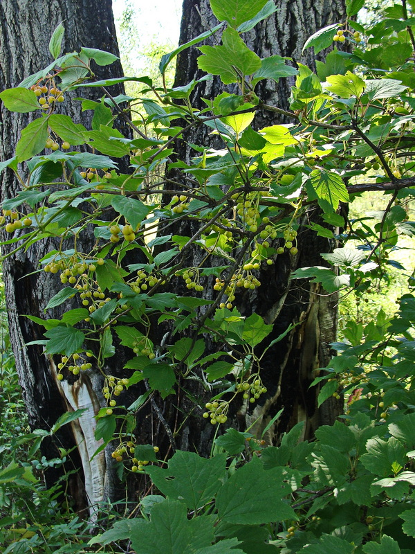
{"type": "MultiPolygon", "coordinates": [[[[55,61],[0,93],[8,109],[38,114],[21,133],[15,157],[0,164],[21,183],[15,197],[3,202],[1,225],[16,249],[60,238],[59,249],[39,262],[44,271],[59,274],[63,285],[46,308],[74,296],[82,307],[62,319],[30,317],[47,329],[45,351],[59,357],[60,381],[82,371],[102,373],[106,405],[98,413],[98,438],[107,444],[115,417],[124,417],[121,408],[113,414],[118,397],[142,380],[148,390],[141,403],[150,391],[165,399],[178,377],[194,378],[197,368],[201,382],[219,382],[227,393],[226,400],[219,393],[205,404],[203,417],[215,426],[226,422],[235,397],[249,409],[267,394],[261,360],[292,326],[258,348],[273,325],[255,313],[241,316],[239,291],[266,285],[259,269],[278,256],[297,256],[299,218],[310,206],[319,206],[326,224],[311,222],[312,231],[351,239],[347,247],[322,255],[333,269],[307,267],[293,274],[322,283],[326,294],[365,294],[392,262],[399,235],[415,233],[408,220],[415,184],[415,19],[406,3],[388,8],[385,21],[365,29],[351,19],[362,2],[348,1],[347,21],[318,31],[304,45],[318,53],[334,36],[336,43],[351,46],[351,52],[335,48],[317,62],[317,73],[278,55],[261,60],[243,42],[239,26],[250,30],[275,12],[272,1],[212,0],[211,6],[221,23],[160,62],[164,73],[180,51],[216,33],[216,46],[199,46],[199,69],[207,74],[202,80],[217,75],[238,92],[221,93],[205,109],[192,107],[199,82],[194,80],[157,89],[147,77],[131,78],[152,91],[154,100],[113,98],[111,85],[129,78],[97,81],[90,62],[107,65],[115,56],[81,48],[58,57],[62,25],[50,41],[55,61]],[[255,93],[260,80],[282,78],[295,80],[289,111],[255,93]],[[92,129],[59,114],[66,91],[81,94],[82,87],[102,87],[102,102],[86,105],[95,110],[92,129]],[[147,114],[139,123],[128,116],[136,107],[147,114]],[[259,110],[291,123],[258,129],[259,110]],[[132,139],[114,127],[119,116],[136,133],[132,139]],[[220,137],[221,150],[199,145],[194,159],[172,162],[184,129],[200,125],[220,137]],[[114,160],[122,157],[129,158],[129,172],[118,170],[114,160]],[[158,177],[165,167],[181,175],[180,182],[168,179],[166,185],[158,177]],[[370,190],[385,191],[381,212],[360,222],[347,220],[347,211],[340,214],[340,203],[370,190]],[[193,223],[194,235],[168,234],[171,224],[183,221],[193,223]],[[95,242],[80,251],[78,238],[85,233],[93,233],[95,242]],[[190,266],[187,255],[196,248],[201,261],[190,266]],[[127,264],[133,251],[145,261],[127,264]],[[223,265],[211,263],[212,256],[223,265]],[[167,292],[177,280],[186,296],[167,292]],[[201,294],[206,287],[213,300],[201,294]],[[189,312],[201,306],[195,321],[189,312]],[[160,348],[153,328],[164,321],[173,333],[187,336],[160,348]],[[205,355],[202,334],[221,350],[205,355]],[[133,355],[123,377],[105,371],[116,336],[133,355]],[[93,348],[97,343],[99,350],[93,348]]],[[[315,443],[299,441],[301,426],[279,447],[228,429],[216,439],[211,459],[176,452],[162,469],[156,465],[158,447],[136,445],[126,413],[129,431],[116,434],[113,458],[132,472],[149,474],[164,496],[147,497],[142,519],[123,520],[91,544],[130,538],[138,554],[414,551],[414,303],[407,295],[397,316],[380,312],[366,327],[351,322],[344,331],[348,342],[335,343],[338,356],[315,383],[324,385],[320,404],[345,393],[347,410],[342,422],[316,431],[315,443]]]]}

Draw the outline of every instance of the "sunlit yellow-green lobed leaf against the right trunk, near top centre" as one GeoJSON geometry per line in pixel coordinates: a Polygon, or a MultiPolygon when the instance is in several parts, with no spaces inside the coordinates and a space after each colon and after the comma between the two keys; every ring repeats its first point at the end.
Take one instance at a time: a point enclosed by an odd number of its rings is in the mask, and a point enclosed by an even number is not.
{"type": "Polygon", "coordinates": [[[261,68],[261,60],[246,46],[236,30],[225,29],[222,40],[223,46],[199,48],[204,54],[197,59],[199,69],[219,75],[224,84],[230,84],[240,80],[241,75],[251,75],[261,68]]]}

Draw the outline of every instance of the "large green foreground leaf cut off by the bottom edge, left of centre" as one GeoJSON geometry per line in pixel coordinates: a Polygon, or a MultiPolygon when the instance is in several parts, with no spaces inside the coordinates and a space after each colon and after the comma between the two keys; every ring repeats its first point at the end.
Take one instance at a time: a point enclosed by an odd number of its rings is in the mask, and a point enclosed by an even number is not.
{"type": "Polygon", "coordinates": [[[185,504],[172,499],[154,504],[151,521],[137,518],[129,528],[136,554],[196,554],[214,542],[212,517],[187,519],[185,504]]]}

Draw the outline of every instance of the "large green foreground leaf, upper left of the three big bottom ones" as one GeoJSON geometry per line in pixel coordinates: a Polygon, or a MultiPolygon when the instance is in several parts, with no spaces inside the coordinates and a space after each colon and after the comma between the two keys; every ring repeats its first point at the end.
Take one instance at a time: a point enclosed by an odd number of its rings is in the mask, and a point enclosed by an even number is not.
{"type": "Polygon", "coordinates": [[[183,500],[189,510],[198,510],[211,501],[223,485],[225,468],[224,454],[206,459],[194,452],[179,450],[169,460],[167,470],[153,466],[148,467],[147,472],[165,496],[183,500]]]}

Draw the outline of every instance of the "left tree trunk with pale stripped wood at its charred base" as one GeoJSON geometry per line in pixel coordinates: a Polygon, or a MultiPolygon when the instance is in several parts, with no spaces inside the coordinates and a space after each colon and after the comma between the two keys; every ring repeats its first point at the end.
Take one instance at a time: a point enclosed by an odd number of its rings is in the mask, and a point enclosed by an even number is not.
{"type": "MultiPolygon", "coordinates": [[[[48,42],[57,25],[63,21],[65,35],[62,53],[79,51],[81,46],[99,48],[118,55],[116,29],[113,21],[111,0],[68,0],[58,2],[33,3],[28,0],[1,0],[0,2],[0,89],[19,86],[28,75],[50,64],[48,42]]],[[[120,62],[105,68],[95,67],[98,78],[122,75],[120,62]]],[[[114,88],[112,89],[114,91],[114,88]]],[[[114,95],[122,92],[119,88],[114,95]]],[[[59,111],[68,114],[75,123],[83,123],[88,128],[91,111],[81,111],[80,102],[71,102],[77,91],[66,93],[66,101],[59,105],[59,111]]],[[[100,89],[84,89],[84,96],[98,100],[100,89]]],[[[38,114],[35,112],[35,117],[38,114]]],[[[14,155],[15,145],[21,129],[33,119],[33,114],[10,113],[3,105],[0,111],[0,160],[14,155]]],[[[128,135],[127,129],[122,129],[128,135]]],[[[21,168],[24,170],[24,168],[21,168]]],[[[11,170],[0,175],[1,200],[13,197],[20,189],[11,170]]],[[[6,236],[3,235],[3,238],[6,236]]],[[[10,238],[7,237],[7,238],[10,238]]],[[[91,241],[93,238],[90,239],[91,241]]],[[[15,353],[19,382],[23,389],[32,428],[50,429],[59,415],[65,411],[87,407],[89,411],[72,425],[63,427],[58,434],[59,446],[70,449],[74,444],[79,452],[73,452],[72,464],[68,470],[82,468],[84,476],[77,478],[73,489],[77,496],[77,507],[82,508],[104,499],[106,460],[102,453],[90,463],[93,452],[98,447],[93,437],[93,415],[100,405],[100,379],[93,375],[82,375],[62,386],[57,382],[55,365],[46,358],[41,346],[26,347],[25,344],[43,338],[44,329],[22,314],[45,317],[44,307],[62,284],[44,271],[39,272],[39,260],[51,249],[59,247],[59,238],[44,240],[34,244],[27,252],[12,253],[13,244],[3,245],[3,261],[10,339],[15,353]],[[10,255],[11,253],[11,255],[10,255]],[[82,481],[85,488],[82,490],[82,481]],[[81,485],[81,488],[80,488],[81,485]]],[[[80,244],[80,248],[87,245],[80,244]]],[[[87,250],[85,250],[87,251],[87,250]]],[[[56,276],[55,276],[56,277],[56,276]]],[[[55,311],[54,316],[59,316],[55,311]]],[[[57,457],[57,445],[45,445],[49,456],[57,457]]],[[[53,483],[56,474],[51,470],[46,475],[53,483]]]]}

